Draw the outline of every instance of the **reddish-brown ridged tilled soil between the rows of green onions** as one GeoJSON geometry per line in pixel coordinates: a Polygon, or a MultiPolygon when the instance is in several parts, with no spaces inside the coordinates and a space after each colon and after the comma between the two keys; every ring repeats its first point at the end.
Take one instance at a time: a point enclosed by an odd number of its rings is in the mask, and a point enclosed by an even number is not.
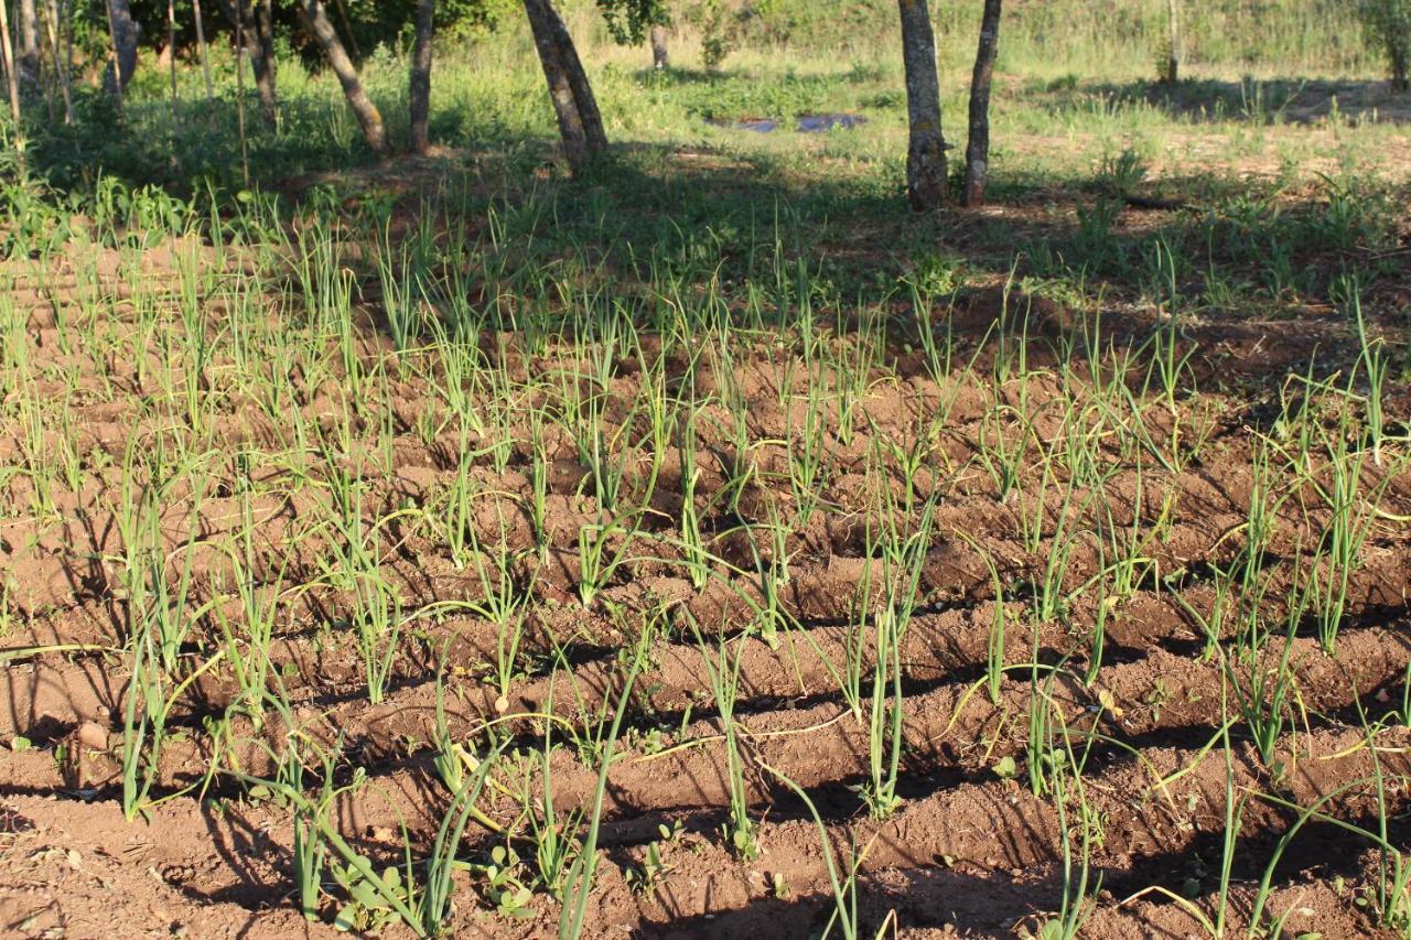
{"type": "MultiPolygon", "coordinates": [[[[353,401],[346,374],[301,373],[289,380],[295,397],[272,402],[261,398],[260,382],[243,380],[262,366],[237,358],[216,323],[233,292],[205,298],[212,353],[199,375],[159,339],[179,326],[172,312],[179,298],[168,288],[182,258],[220,272],[217,284],[248,265],[186,243],[150,250],[138,267],[119,255],[75,253],[69,270],[44,278],[24,264],[4,272],[32,377],[11,394],[44,408],[41,430],[23,419],[0,428],[0,454],[31,470],[4,478],[8,510],[0,521],[8,624],[0,676],[0,741],[10,744],[0,754],[6,932],[332,933],[340,889],[327,885],[319,920],[299,916],[289,810],[236,776],[278,775],[295,731],[329,749],[340,783],[358,768],[332,813],[339,831],[378,865],[396,864],[406,843],[425,852],[436,837],[450,795],[435,742],[476,749],[494,734],[505,754],[464,855],[481,864],[505,841],[494,830],[515,831],[516,876],[532,882],[532,830],[515,796],[547,789],[562,814],[591,805],[601,751],[559,747],[542,755],[540,748],[546,731],[559,742],[574,734],[595,740],[628,676],[622,651],[646,621],[658,627],[645,668],[632,676],[625,731],[605,778],[588,936],[820,932],[834,913],[830,862],[844,874],[855,869],[869,934],[883,924],[909,936],[1037,932],[1064,908],[1065,886],[1082,871],[1091,893],[1086,936],[1195,936],[1201,917],[1218,916],[1226,833],[1236,847],[1232,923],[1247,922],[1267,872],[1266,915],[1290,934],[1386,929],[1369,902],[1381,857],[1349,827],[1386,826],[1387,843],[1405,847],[1411,740],[1400,723],[1381,724],[1403,707],[1411,658],[1404,522],[1411,474],[1395,449],[1388,443],[1381,460],[1363,469],[1362,491],[1376,494],[1377,514],[1357,552],[1332,655],[1314,620],[1291,613],[1308,579],[1328,576],[1314,560],[1331,518],[1318,470],[1302,483],[1274,481],[1281,498],[1260,589],[1233,597],[1257,617],[1216,617],[1229,601],[1218,590],[1222,572],[1246,545],[1256,453],[1284,433],[1283,375],[1315,354],[1319,375],[1345,367],[1353,347],[1342,320],[1328,318],[1297,335],[1273,322],[1192,323],[1182,340],[1192,358],[1180,401],[1168,408],[1141,398],[1136,370],[1118,378],[1137,388],[1133,401],[1141,402],[1122,419],[1102,411],[1096,391],[1110,361],[1064,364],[1057,351],[1062,337],[1082,333],[1085,313],[1037,305],[1030,336],[1005,309],[1029,303],[1022,295],[979,291],[937,306],[933,316],[958,342],[948,374],[931,374],[914,344],[883,336],[882,366],[872,367],[861,397],[847,404],[828,385],[821,415],[809,414],[801,387],[780,391],[800,374],[832,381],[827,370],[809,373],[817,366],[796,337],[741,346],[728,360],[703,354],[697,394],[739,394],[752,446],[739,450],[727,408],[706,406],[714,411],[693,445],[694,500],[717,562],[700,587],[683,565],[680,447],[673,439],[653,460],[635,405],[650,382],[684,374],[682,350],[645,339],[636,353],[618,350],[605,370],[610,381],[595,387],[608,426],[625,429],[617,438],[624,502],[639,500],[645,511],[610,542],[624,560],[584,604],[583,532],[611,518],[594,495],[601,481],[584,466],[567,419],[546,425],[538,442],[521,439],[535,397],[563,391],[566,375],[594,368],[573,360],[580,347],[560,340],[531,350],[512,336],[488,337],[485,363],[535,391],[525,394],[523,409],[509,408],[499,430],[487,421],[461,433],[442,421],[442,367],[409,354],[398,360],[377,318],[363,312],[356,356],[364,368],[385,366],[361,388],[365,397],[353,401]],[[144,333],[151,309],[161,326],[144,333]],[[106,351],[72,342],[82,329],[76,316],[103,318],[106,351]],[[1007,325],[996,339],[998,319],[1007,325]],[[1033,371],[996,375],[1017,349],[1033,371]],[[653,350],[667,360],[659,374],[653,350]],[[411,364],[396,368],[398,361],[411,364]],[[199,421],[182,411],[192,402],[188,382],[200,385],[199,421]],[[1062,471],[1055,477],[1071,433],[1065,414],[1086,416],[1091,453],[1113,469],[1101,493],[1065,491],[1062,471]],[[944,422],[924,460],[907,470],[902,454],[935,415],[944,422]],[[799,428],[810,421],[825,457],[818,510],[803,518],[790,515],[800,500],[790,469],[799,428]],[[341,443],[329,446],[337,435],[341,443]],[[200,615],[179,645],[169,737],[150,759],[152,805],[145,819],[128,821],[120,802],[124,723],[143,704],[131,683],[124,487],[134,478],[134,443],[151,450],[181,439],[199,453],[202,473],[162,491],[155,531],[175,559],[164,577],[186,583],[186,603],[200,615]],[[505,445],[502,466],[497,443],[505,445]],[[1016,443],[1024,446],[1013,450],[1016,443]],[[1007,484],[993,466],[996,447],[1015,453],[1007,484]],[[45,491],[37,453],[75,454],[76,486],[45,491]],[[466,453],[477,456],[460,474],[466,453]],[[1044,463],[1044,453],[1054,459],[1044,463]],[[531,511],[536,460],[542,521],[531,511]],[[752,471],[731,502],[722,494],[735,484],[729,467],[738,462],[752,471]],[[349,536],[330,519],[350,515],[327,481],[350,467],[358,478],[351,517],[377,532],[377,569],[398,610],[435,611],[408,621],[392,641],[385,694],[375,704],[351,627],[367,598],[337,577],[333,560],[349,536]],[[473,548],[457,558],[428,519],[444,512],[463,477],[476,493],[466,522],[473,548]],[[856,709],[840,690],[847,663],[871,676],[876,661],[876,624],[858,597],[861,584],[885,576],[875,545],[878,507],[886,505],[879,490],[893,505],[934,497],[919,605],[897,658],[906,703],[900,802],[883,819],[869,816],[859,795],[872,766],[862,707],[871,687],[861,686],[856,709]],[[779,545],[751,528],[775,518],[770,512],[790,518],[779,545]],[[1139,543],[1141,563],[1130,590],[1103,596],[1095,586],[1109,570],[1113,534],[1139,543]],[[512,555],[511,569],[491,563],[498,548],[512,555]],[[766,601],[758,572],[782,570],[780,552],[787,574],[768,590],[783,625],[769,635],[752,628],[766,601]],[[1057,576],[1064,601],[1057,615],[1037,618],[1034,584],[1055,556],[1065,558],[1057,576]],[[484,607],[466,605],[502,579],[526,598],[521,648],[505,675],[494,668],[504,628],[484,607]],[[268,682],[285,713],[254,714],[233,670],[231,651],[250,649],[230,639],[248,627],[241,583],[274,611],[268,682]],[[1230,651],[1254,621],[1273,624],[1273,639],[1264,653],[1240,658],[1230,651]],[[1095,658],[1098,622],[1105,642],[1095,658]],[[1213,635],[1208,622],[1216,624],[1213,635]],[[1006,669],[992,696],[986,666],[999,635],[995,665],[1006,669]],[[727,728],[707,679],[721,641],[739,655],[734,720],[756,823],[753,858],[722,836],[731,797],[727,728]],[[1257,687],[1280,659],[1291,680],[1285,697],[1268,706],[1281,727],[1261,755],[1232,690],[1257,687]],[[1062,783],[1067,796],[1051,783],[1030,786],[1036,707],[1065,730],[1068,757],[1081,766],[1062,783]],[[1301,821],[1295,807],[1318,814],[1301,821]],[[1291,827],[1300,834],[1280,847],[1291,827]]],[[[265,340],[296,329],[288,303],[278,296],[268,303],[265,340]]],[[[1136,313],[1115,315],[1103,327],[1118,344],[1151,332],[1136,313]]],[[[825,342],[847,350],[864,340],[825,342]]],[[[1404,430],[1411,399],[1400,387],[1388,392],[1388,426],[1404,430]]],[[[490,415],[505,394],[480,390],[474,408],[490,415]]],[[[1318,401],[1311,421],[1336,426],[1333,398],[1318,401]]],[[[66,478],[62,467],[55,476],[66,478]]],[[[317,771],[310,764],[310,781],[317,771]]],[[[536,891],[522,916],[508,916],[477,872],[456,876],[460,933],[555,933],[559,903],[546,892],[536,891]]]]}

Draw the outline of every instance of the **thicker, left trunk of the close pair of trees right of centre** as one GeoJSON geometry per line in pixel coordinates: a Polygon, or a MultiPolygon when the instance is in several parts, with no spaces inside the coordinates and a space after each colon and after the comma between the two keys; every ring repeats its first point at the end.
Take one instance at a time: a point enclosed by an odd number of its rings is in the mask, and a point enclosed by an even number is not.
{"type": "Polygon", "coordinates": [[[916,212],[945,202],[945,138],[941,135],[941,82],[935,73],[935,32],[927,0],[899,0],[902,62],[906,66],[906,195],[916,212]]]}

